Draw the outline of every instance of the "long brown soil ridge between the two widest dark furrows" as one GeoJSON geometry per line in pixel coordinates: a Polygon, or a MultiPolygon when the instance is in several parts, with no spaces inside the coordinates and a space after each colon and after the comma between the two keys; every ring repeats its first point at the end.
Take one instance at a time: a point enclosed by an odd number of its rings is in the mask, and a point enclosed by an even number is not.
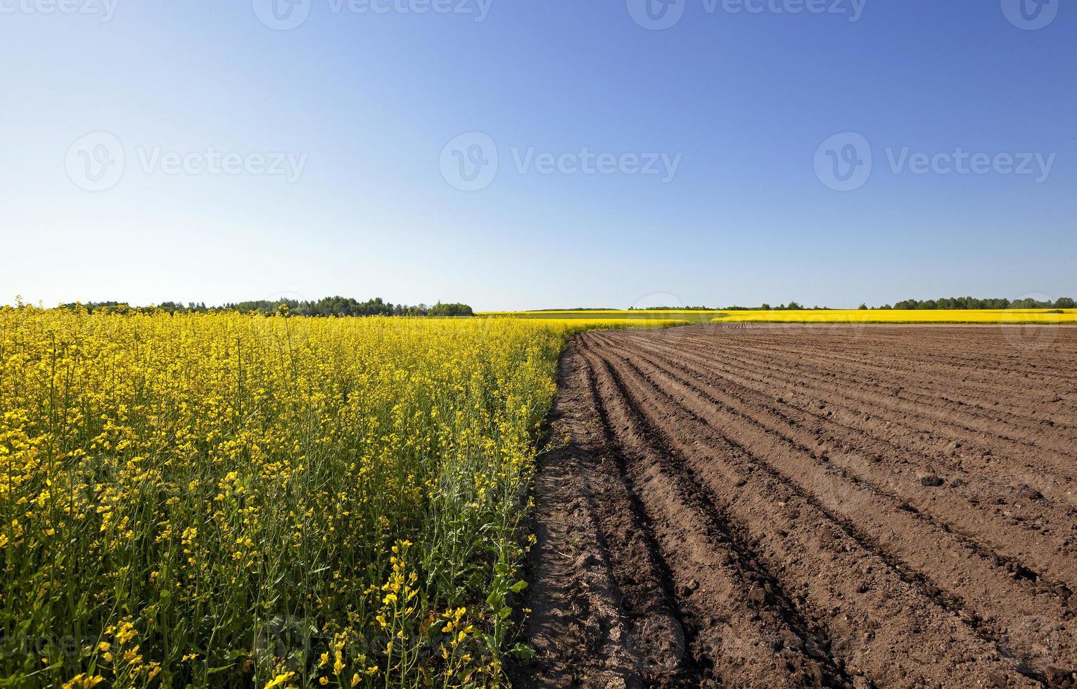
{"type": "Polygon", "coordinates": [[[673,572],[686,599],[682,606],[703,622],[695,634],[698,652],[729,686],[852,686],[826,650],[829,633],[800,616],[685,463],[654,445],[610,363],[591,361],[605,404],[627,422],[614,433],[634,452],[641,495],[662,516],[663,550],[679,565],[673,572]]]}

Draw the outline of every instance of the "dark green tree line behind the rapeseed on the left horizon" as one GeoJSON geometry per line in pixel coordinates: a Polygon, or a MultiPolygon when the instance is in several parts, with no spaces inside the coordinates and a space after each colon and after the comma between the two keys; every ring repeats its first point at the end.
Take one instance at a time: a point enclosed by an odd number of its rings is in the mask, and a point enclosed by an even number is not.
{"type": "Polygon", "coordinates": [[[209,311],[236,311],[239,313],[261,313],[272,315],[275,313],[289,313],[291,315],[314,315],[314,317],[342,317],[342,315],[430,315],[430,317],[459,317],[475,315],[472,308],[466,304],[442,304],[438,301],[433,306],[419,304],[407,306],[404,304],[392,304],[381,297],[359,301],[350,297],[325,297],[317,301],[303,301],[298,299],[260,299],[256,301],[238,301],[225,304],[223,306],[208,307],[206,303],[188,301],[162,301],[156,306],[132,307],[123,301],[88,301],[85,304],[64,304],[61,308],[83,309],[86,311],[110,311],[110,312],[153,312],[167,311],[169,313],[207,313],[209,311]]]}

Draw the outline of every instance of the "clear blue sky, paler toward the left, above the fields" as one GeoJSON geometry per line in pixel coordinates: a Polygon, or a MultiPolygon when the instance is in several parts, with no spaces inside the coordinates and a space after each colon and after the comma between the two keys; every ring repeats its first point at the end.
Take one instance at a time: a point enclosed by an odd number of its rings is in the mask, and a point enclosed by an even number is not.
{"type": "Polygon", "coordinates": [[[1077,296],[1075,48],[1077,0],[0,0],[0,303],[1077,296]]]}

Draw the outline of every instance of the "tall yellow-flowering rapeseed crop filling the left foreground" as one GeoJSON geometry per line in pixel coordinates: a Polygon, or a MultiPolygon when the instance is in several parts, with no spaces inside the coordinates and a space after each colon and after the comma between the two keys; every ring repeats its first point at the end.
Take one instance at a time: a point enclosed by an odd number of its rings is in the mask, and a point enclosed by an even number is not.
{"type": "Polygon", "coordinates": [[[0,309],[0,685],[498,684],[557,357],[626,324],[0,309]]]}

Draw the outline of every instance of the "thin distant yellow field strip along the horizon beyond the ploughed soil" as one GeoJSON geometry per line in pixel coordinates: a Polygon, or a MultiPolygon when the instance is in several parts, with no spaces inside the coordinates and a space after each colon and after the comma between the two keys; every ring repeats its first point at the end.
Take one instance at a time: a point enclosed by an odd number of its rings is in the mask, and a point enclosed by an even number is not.
{"type": "MultiPolygon", "coordinates": [[[[981,323],[1005,324],[1077,324],[1077,309],[833,309],[805,311],[501,311],[480,313],[486,317],[543,319],[610,324],[630,323],[629,327],[660,326],[683,323],[981,323]]],[[[624,325],[621,325],[624,327],[624,325]]],[[[593,327],[593,326],[592,326],[593,327]]]]}

